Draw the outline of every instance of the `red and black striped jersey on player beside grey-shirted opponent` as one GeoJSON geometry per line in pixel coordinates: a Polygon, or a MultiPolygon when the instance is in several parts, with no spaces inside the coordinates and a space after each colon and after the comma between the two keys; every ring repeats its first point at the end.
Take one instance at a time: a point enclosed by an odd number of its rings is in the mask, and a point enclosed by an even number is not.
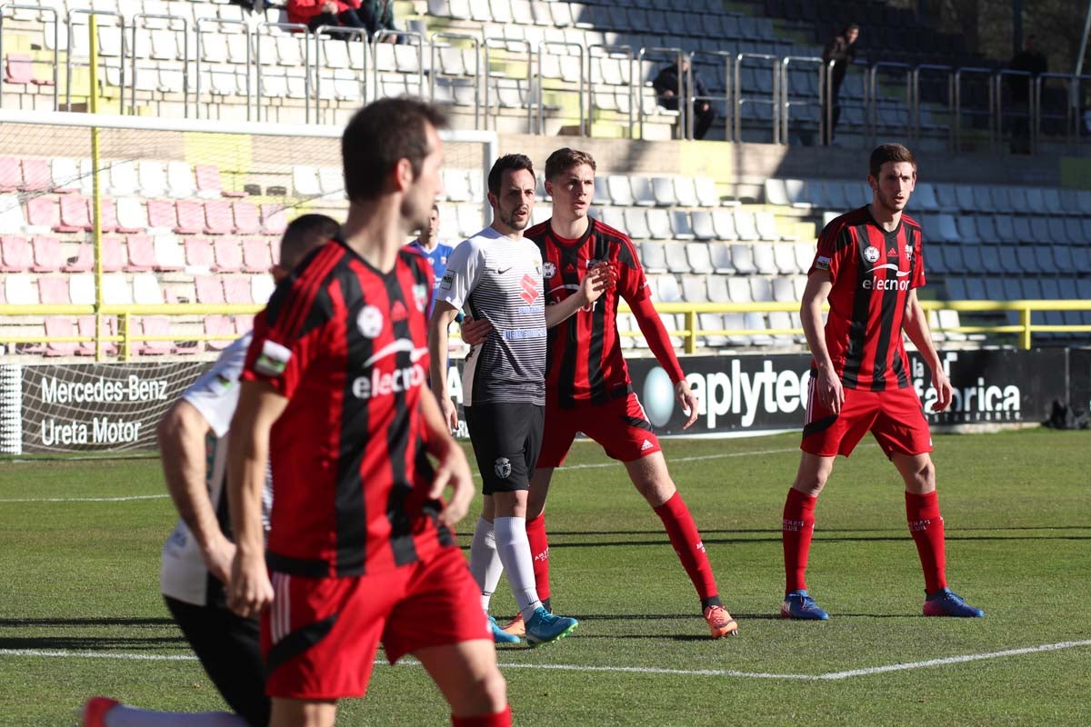
{"type": "Polygon", "coordinates": [[[621,353],[618,304],[624,299],[632,307],[651,295],[628,235],[597,219],[588,218],[588,222],[587,232],[577,240],[555,234],[549,220],[524,232],[542,254],[547,305],[579,290],[587,268],[600,260],[609,262],[618,272],[615,288],[549,330],[546,397],[564,408],[577,401],[601,403],[633,390],[621,353]]]}

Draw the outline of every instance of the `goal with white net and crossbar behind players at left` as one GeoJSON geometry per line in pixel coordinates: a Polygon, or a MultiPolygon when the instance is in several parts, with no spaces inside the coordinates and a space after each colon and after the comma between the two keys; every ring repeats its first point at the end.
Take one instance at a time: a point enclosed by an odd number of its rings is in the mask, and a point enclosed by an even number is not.
{"type": "MultiPolygon", "coordinates": [[[[154,446],[267,301],[287,222],[344,219],[341,131],[0,110],[0,453],[154,446]]],[[[496,144],[443,136],[454,244],[496,144]]]]}

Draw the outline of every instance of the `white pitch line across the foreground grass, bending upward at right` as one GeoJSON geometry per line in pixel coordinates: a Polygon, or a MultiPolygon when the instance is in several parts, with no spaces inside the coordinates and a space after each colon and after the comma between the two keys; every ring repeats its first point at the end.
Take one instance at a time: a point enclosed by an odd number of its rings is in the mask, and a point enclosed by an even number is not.
{"type": "MultiPolygon", "coordinates": [[[[906,671],[909,669],[923,669],[934,666],[947,666],[949,664],[964,664],[967,662],[980,662],[988,658],[1002,658],[1005,656],[1021,656],[1024,654],[1039,654],[1042,652],[1060,651],[1063,649],[1077,649],[1080,646],[1091,646],[1091,640],[1086,641],[1062,641],[1055,644],[1042,644],[1040,646],[1027,646],[1024,649],[1008,649],[999,652],[986,652],[983,654],[966,654],[963,656],[947,656],[934,658],[926,662],[909,662],[906,664],[890,664],[888,666],[875,666],[866,669],[851,669],[848,671],[830,671],[827,674],[771,674],[766,671],[736,671],[734,669],[667,669],[646,666],[585,666],[578,664],[501,664],[502,669],[552,669],[555,671],[610,671],[615,674],[651,674],[685,677],[736,677],[750,679],[786,679],[795,681],[838,681],[851,677],[866,677],[873,674],[885,674],[887,671],[906,671]]],[[[193,662],[196,657],[189,654],[110,654],[97,652],[70,652],[70,651],[36,651],[32,649],[0,649],[0,656],[37,656],[52,658],[112,658],[134,662],[193,662]]],[[[375,665],[386,664],[384,659],[375,659],[375,665]]],[[[405,662],[406,666],[419,666],[416,661],[405,662]]]]}

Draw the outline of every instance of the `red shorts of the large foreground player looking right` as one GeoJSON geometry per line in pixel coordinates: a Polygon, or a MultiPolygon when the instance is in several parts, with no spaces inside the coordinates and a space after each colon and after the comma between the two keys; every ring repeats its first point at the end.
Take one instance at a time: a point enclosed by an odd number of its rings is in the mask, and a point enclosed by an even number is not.
{"type": "Polygon", "coordinates": [[[271,575],[273,604],[261,619],[269,696],[363,696],[380,642],[394,664],[425,646],[490,638],[481,591],[455,547],[375,575],[271,575]]]}

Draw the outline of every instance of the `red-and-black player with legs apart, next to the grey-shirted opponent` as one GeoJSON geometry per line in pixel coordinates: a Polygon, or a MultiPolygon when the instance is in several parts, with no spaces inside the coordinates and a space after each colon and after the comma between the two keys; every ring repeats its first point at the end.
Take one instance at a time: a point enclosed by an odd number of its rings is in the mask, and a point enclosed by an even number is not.
{"type": "Polygon", "coordinates": [[[550,597],[546,495],[553,470],[564,461],[576,433],[583,432],[625,464],[637,490],[662,519],[700,597],[712,637],[736,633],[739,627],[720,601],[700,534],[667,470],[659,439],[633,391],[621,353],[616,316],[624,300],[674,383],[674,393],[688,412],[685,426],[694,423],[697,398],[651,303],[636,249],[624,232],[587,214],[595,193],[595,159],[589,154],[570,148],[551,154],[546,161],[546,189],[553,197],[553,217],[527,230],[526,237],[542,253],[547,305],[578,291],[588,268],[603,260],[613,268],[616,283],[597,302],[549,330],[546,431],[527,508],[538,595],[543,602],[550,597]]]}

